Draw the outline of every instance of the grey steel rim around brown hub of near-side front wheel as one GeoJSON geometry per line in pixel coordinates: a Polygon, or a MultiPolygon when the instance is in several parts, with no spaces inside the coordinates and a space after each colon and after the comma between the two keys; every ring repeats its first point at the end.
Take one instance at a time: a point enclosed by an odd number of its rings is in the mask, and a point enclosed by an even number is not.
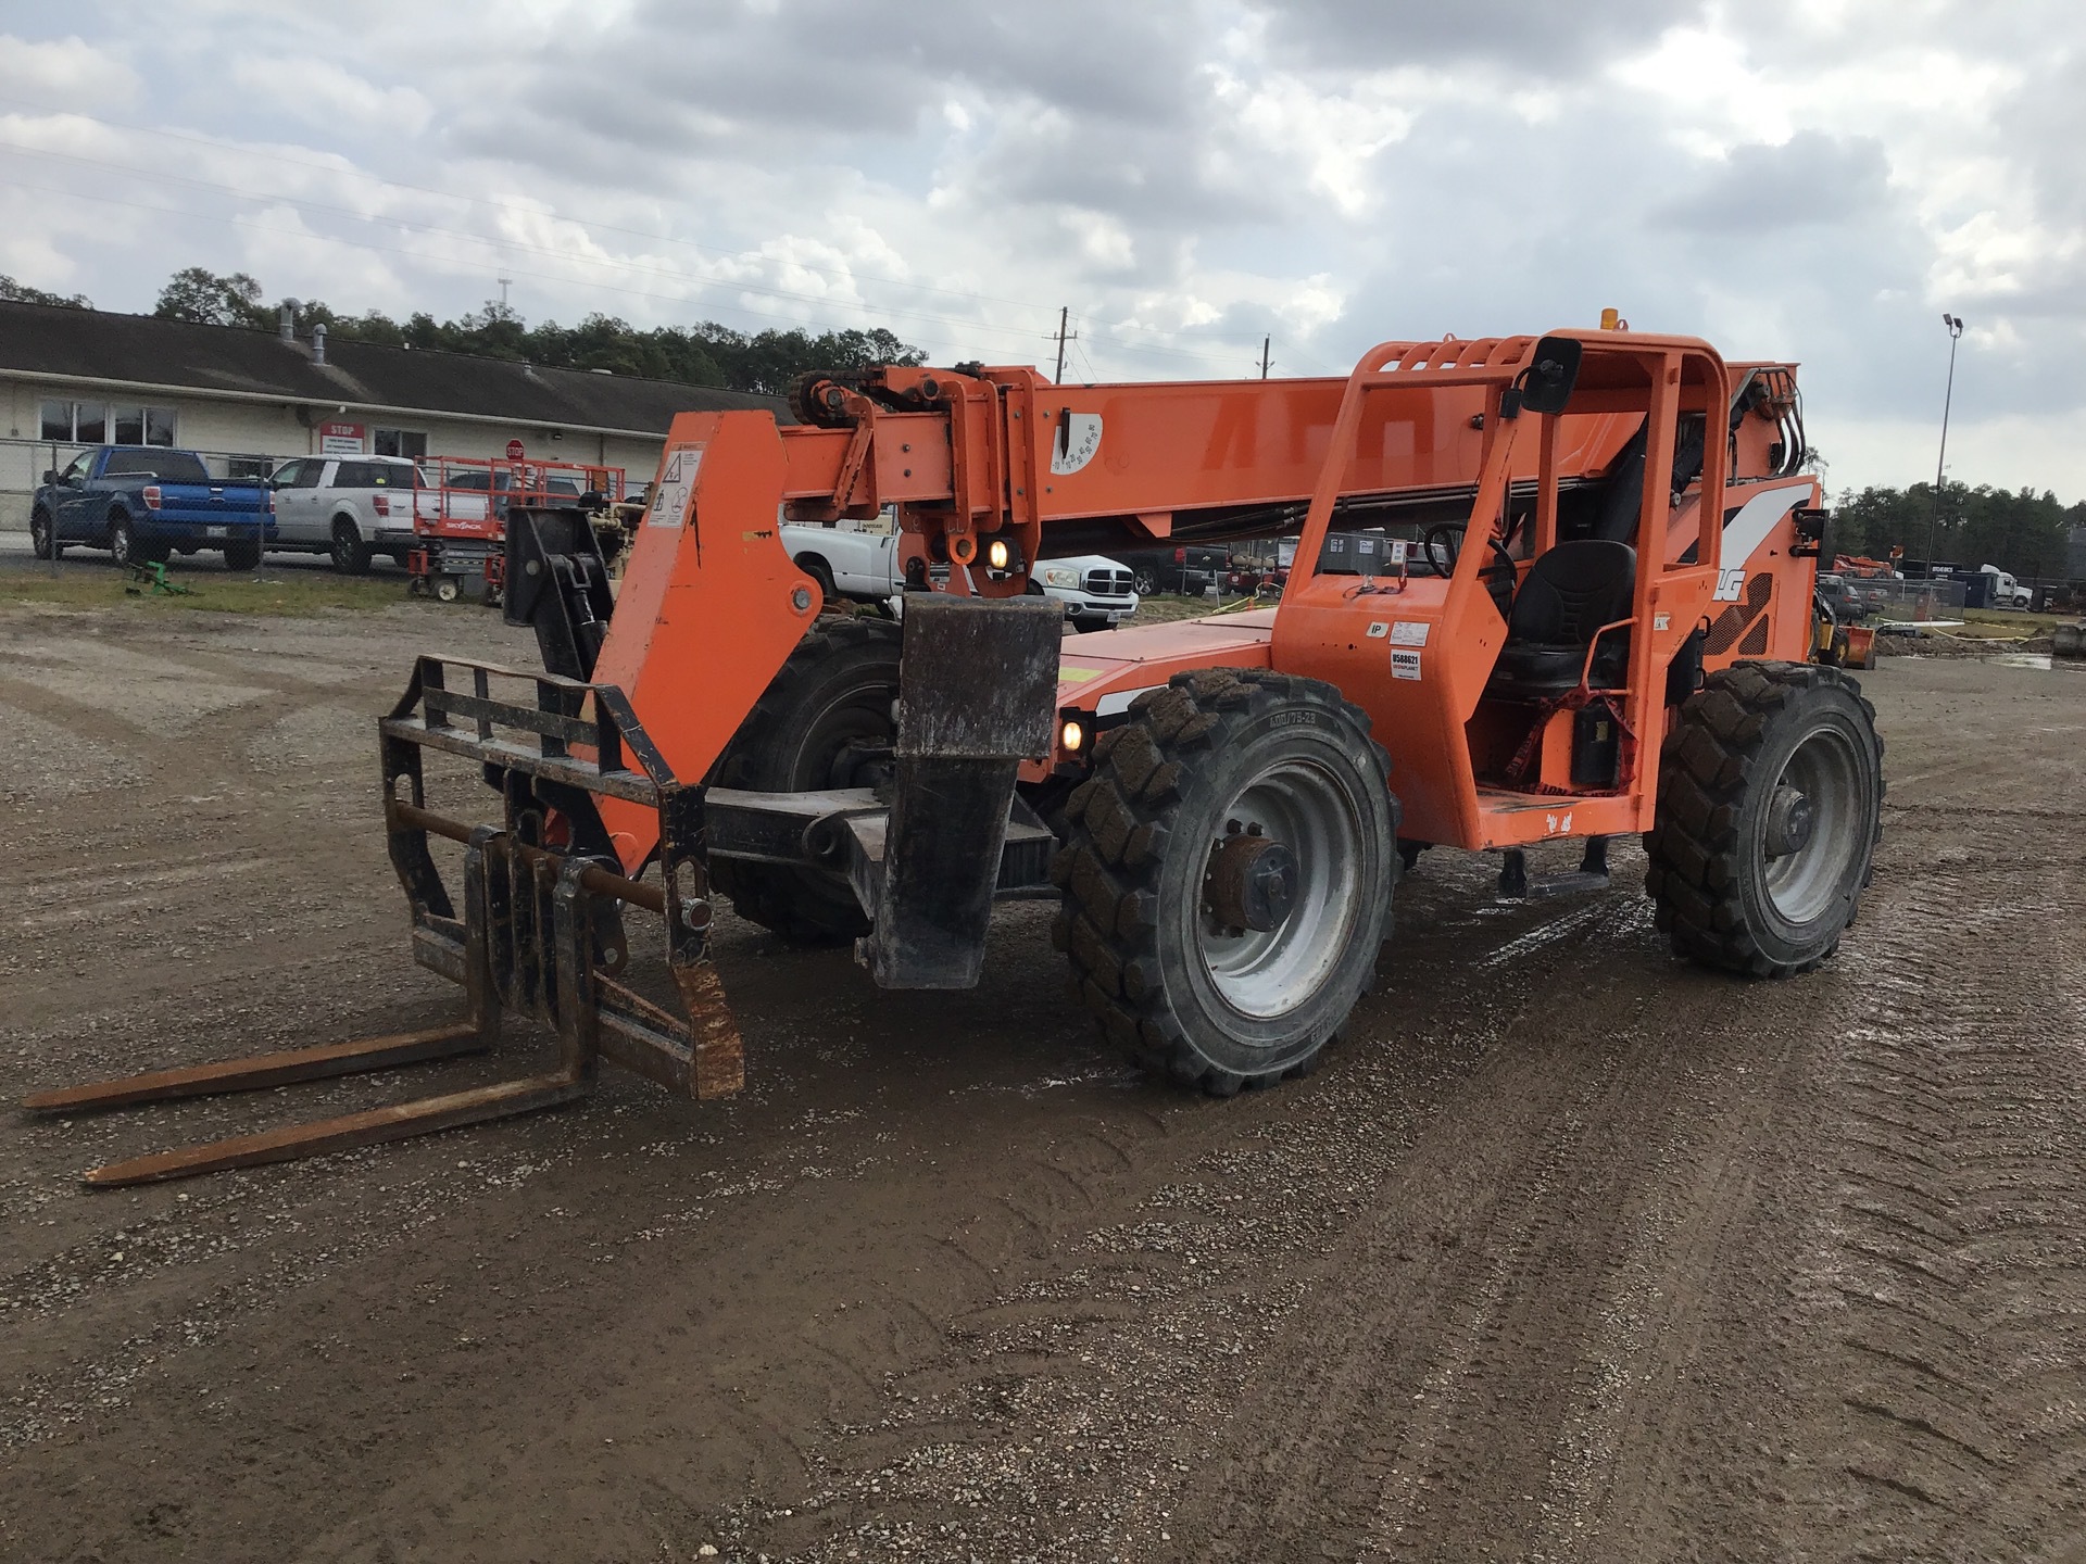
{"type": "Polygon", "coordinates": [[[1231,822],[1241,830],[1260,826],[1295,853],[1295,903],[1281,928],[1229,932],[1197,899],[1195,951],[1231,1009],[1275,1020],[1318,991],[1348,945],[1360,901],[1362,817],[1329,769],[1281,761],[1220,811],[1212,851],[1231,822]]]}

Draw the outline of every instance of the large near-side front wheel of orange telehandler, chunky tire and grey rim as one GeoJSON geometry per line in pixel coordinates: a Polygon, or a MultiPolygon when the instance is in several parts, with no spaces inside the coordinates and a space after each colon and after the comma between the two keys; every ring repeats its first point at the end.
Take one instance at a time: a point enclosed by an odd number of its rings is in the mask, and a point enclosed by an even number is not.
{"type": "Polygon", "coordinates": [[[1093,757],[1051,878],[1101,1030],[1218,1097],[1304,1074],[1375,982],[1398,882],[1368,717],[1316,680],[1202,669],[1093,757]]]}

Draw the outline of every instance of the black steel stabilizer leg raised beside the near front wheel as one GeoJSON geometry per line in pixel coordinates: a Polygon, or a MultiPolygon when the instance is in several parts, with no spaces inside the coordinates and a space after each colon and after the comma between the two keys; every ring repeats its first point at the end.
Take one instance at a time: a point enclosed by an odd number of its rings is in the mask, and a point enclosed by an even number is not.
{"type": "Polygon", "coordinates": [[[905,598],[897,786],[849,865],[872,918],[855,955],[880,986],[978,982],[1014,778],[1051,747],[1062,638],[1051,598],[905,598]]]}

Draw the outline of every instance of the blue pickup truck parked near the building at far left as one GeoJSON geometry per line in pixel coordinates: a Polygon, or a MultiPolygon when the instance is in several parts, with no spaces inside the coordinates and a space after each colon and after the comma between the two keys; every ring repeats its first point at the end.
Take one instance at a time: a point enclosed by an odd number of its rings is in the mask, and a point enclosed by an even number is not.
{"type": "Polygon", "coordinates": [[[38,559],[69,544],[106,548],[119,565],[219,548],[225,569],[252,569],[275,540],[275,507],[265,484],[211,478],[194,450],[100,446],[44,473],[29,536],[38,559]]]}

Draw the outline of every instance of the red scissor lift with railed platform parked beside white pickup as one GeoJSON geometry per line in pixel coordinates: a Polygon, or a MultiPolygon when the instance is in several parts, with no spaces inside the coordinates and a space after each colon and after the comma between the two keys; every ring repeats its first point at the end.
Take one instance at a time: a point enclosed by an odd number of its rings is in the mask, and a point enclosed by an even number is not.
{"type": "Polygon", "coordinates": [[[613,505],[624,498],[624,469],[578,461],[503,461],[499,457],[426,457],[432,482],[413,500],[415,546],[407,555],[407,592],[455,603],[469,580],[484,582],[488,605],[507,590],[507,511],[513,507],[613,505]],[[599,496],[599,498],[590,498],[599,496]]]}

